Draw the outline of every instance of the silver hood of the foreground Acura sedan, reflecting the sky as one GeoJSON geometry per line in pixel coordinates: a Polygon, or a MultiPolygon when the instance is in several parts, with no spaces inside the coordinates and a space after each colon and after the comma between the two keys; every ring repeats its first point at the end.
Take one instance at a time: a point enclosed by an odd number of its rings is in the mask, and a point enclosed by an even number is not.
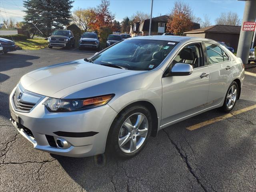
{"type": "MultiPolygon", "coordinates": [[[[129,72],[129,70],[76,60],[32,71],[22,76],[20,83],[28,91],[54,97],[56,96],[54,93],[70,86],[109,76],[113,78],[117,74],[126,72],[129,72]]],[[[60,95],[58,96],[59,98],[61,97],[60,95]]]]}

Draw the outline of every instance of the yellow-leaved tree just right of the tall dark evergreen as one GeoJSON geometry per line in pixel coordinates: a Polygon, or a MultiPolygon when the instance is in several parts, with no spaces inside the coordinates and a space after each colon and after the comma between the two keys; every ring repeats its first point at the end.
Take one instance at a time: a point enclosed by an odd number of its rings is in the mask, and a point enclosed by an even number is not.
{"type": "Polygon", "coordinates": [[[77,9],[73,12],[73,22],[85,32],[92,29],[96,22],[96,12],[92,8],[77,9]]]}

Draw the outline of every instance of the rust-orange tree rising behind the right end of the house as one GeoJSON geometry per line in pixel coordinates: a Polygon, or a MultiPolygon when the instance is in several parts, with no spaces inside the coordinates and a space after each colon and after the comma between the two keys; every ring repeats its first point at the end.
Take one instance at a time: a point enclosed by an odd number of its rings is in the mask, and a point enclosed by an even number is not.
{"type": "Polygon", "coordinates": [[[167,30],[176,35],[182,35],[184,32],[192,29],[192,10],[185,2],[177,1],[170,18],[166,24],[167,30]]]}

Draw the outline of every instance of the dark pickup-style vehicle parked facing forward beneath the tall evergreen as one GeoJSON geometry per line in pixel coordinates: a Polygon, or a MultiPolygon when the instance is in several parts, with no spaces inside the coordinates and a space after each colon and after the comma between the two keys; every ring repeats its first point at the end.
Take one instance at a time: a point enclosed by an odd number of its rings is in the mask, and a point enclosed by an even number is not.
{"type": "Polygon", "coordinates": [[[55,30],[50,37],[48,37],[48,47],[66,47],[70,49],[75,46],[75,38],[70,30],[55,30]]]}

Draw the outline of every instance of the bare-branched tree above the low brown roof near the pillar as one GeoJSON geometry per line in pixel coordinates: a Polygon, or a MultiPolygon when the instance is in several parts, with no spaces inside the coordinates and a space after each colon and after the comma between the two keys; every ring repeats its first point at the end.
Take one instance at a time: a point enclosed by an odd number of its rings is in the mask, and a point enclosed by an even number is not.
{"type": "Polygon", "coordinates": [[[217,25],[234,25],[234,26],[240,26],[242,23],[242,20],[239,18],[238,14],[235,12],[222,12],[220,14],[220,17],[216,18],[215,20],[217,25]]]}

